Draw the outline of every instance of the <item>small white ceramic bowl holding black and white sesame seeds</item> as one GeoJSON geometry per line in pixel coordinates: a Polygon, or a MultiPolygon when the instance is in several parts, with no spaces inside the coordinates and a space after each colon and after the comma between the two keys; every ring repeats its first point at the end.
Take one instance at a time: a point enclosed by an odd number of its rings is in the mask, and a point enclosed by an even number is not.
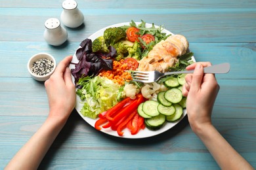
{"type": "Polygon", "coordinates": [[[56,61],[53,58],[53,56],[51,56],[51,54],[38,53],[38,54],[33,55],[32,58],[30,58],[30,60],[28,61],[28,72],[35,80],[38,80],[38,81],[45,81],[48,78],[50,78],[50,76],[53,74],[55,68],[56,68],[56,61]],[[49,73],[47,73],[45,75],[37,75],[36,73],[33,73],[33,71],[32,71],[33,63],[35,63],[35,61],[38,61],[39,59],[50,59],[51,61],[53,61],[53,69],[51,69],[51,71],[49,71],[49,73]]]}

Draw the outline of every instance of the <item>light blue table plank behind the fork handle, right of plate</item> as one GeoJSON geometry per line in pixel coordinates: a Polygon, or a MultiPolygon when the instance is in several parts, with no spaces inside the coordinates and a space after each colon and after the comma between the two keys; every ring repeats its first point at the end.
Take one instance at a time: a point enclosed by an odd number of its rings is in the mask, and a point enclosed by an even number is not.
{"type": "Polygon", "coordinates": [[[190,42],[190,50],[194,52],[196,61],[210,61],[213,64],[230,63],[230,72],[226,75],[217,75],[217,78],[255,79],[255,43],[190,42]]]}

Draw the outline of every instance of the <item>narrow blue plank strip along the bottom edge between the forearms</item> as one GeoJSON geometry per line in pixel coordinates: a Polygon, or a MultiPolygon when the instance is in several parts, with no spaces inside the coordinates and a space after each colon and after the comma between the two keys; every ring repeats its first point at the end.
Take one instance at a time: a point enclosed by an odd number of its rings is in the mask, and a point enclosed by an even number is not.
{"type": "MultiPolygon", "coordinates": [[[[85,153],[87,154],[87,153],[85,153]]],[[[102,152],[107,155],[108,153],[102,152]]],[[[219,169],[215,161],[144,161],[144,160],[93,160],[69,159],[42,161],[39,169],[219,169]]],[[[9,160],[3,160],[3,169],[9,160]]]]}

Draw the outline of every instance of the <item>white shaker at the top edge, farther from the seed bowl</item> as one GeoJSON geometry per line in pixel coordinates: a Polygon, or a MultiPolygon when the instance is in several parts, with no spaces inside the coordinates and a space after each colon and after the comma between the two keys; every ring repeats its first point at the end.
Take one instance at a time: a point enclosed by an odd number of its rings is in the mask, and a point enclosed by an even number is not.
{"type": "Polygon", "coordinates": [[[66,0],[62,3],[61,22],[67,27],[75,28],[83,24],[83,13],[77,8],[77,2],[66,0]]]}

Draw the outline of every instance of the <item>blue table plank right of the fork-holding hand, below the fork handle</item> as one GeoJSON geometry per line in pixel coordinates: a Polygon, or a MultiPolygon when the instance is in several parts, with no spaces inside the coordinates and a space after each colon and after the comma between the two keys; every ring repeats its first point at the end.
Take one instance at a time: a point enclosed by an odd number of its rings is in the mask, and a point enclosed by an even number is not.
{"type": "Polygon", "coordinates": [[[213,117],[256,118],[256,107],[253,104],[256,84],[253,82],[255,80],[219,80],[221,90],[215,101],[213,117]]]}

